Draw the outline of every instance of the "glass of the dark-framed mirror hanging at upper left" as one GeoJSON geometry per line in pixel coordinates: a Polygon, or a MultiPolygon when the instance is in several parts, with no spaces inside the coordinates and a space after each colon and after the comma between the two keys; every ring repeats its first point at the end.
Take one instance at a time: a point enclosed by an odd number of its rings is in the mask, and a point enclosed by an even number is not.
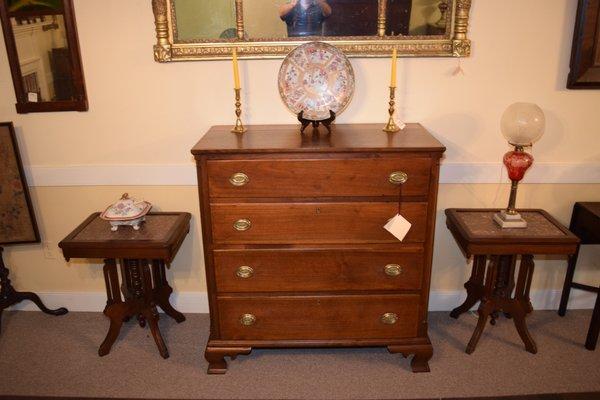
{"type": "Polygon", "coordinates": [[[9,0],[8,12],[27,101],[75,100],[62,0],[9,0]]]}

